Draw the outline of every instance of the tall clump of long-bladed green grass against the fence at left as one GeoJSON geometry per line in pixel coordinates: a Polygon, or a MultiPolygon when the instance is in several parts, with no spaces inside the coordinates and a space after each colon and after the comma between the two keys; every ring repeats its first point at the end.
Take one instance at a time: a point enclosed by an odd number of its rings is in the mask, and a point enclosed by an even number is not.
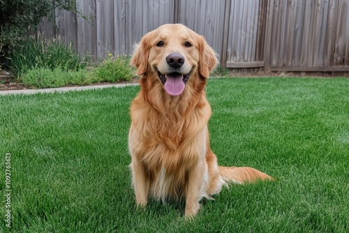
{"type": "Polygon", "coordinates": [[[47,39],[38,35],[22,41],[10,54],[10,70],[20,80],[29,70],[48,68],[54,70],[79,70],[86,62],[76,54],[72,43],[65,44],[61,39],[47,39]]]}

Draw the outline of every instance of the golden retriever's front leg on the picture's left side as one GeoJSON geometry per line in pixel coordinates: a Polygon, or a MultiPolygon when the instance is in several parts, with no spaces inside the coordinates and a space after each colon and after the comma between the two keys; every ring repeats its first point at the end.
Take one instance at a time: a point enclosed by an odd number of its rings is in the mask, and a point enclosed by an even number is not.
{"type": "Polygon", "coordinates": [[[133,186],[135,188],[135,201],[137,206],[144,207],[148,202],[149,180],[144,166],[136,160],[131,163],[133,186]]]}

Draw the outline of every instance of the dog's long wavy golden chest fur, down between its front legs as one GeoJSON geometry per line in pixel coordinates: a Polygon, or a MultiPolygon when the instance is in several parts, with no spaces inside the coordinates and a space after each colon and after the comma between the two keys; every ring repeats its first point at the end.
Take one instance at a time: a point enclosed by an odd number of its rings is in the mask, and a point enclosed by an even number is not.
{"type": "Polygon", "coordinates": [[[129,146],[147,170],[151,195],[162,200],[182,197],[188,171],[205,160],[211,108],[208,103],[193,107],[185,118],[175,112],[159,112],[151,105],[131,106],[131,111],[142,118],[132,121],[129,146]]]}

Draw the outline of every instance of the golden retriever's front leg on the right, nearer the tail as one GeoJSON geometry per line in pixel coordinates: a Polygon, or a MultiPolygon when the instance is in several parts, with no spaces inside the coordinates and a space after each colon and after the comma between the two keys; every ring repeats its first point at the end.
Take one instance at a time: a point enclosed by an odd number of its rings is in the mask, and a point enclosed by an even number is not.
{"type": "Polygon", "coordinates": [[[195,166],[188,173],[188,186],[186,188],[186,211],[185,216],[195,216],[199,209],[199,201],[201,199],[201,192],[205,186],[205,170],[207,165],[202,161],[200,165],[195,166]]]}

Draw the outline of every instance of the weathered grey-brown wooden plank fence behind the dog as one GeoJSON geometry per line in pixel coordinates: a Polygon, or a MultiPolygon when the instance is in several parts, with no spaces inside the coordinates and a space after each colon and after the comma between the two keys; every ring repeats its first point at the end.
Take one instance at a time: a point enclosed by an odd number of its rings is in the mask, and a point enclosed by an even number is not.
{"type": "Polygon", "coordinates": [[[205,36],[223,68],[349,72],[349,0],[78,0],[90,22],[56,10],[39,31],[73,41],[101,59],[131,54],[161,24],[182,23],[205,36]]]}

